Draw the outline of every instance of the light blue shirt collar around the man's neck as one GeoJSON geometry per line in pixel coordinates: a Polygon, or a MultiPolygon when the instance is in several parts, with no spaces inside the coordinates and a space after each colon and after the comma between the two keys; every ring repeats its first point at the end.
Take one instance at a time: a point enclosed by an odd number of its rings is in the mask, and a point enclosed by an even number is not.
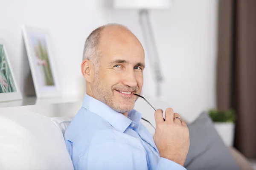
{"type": "Polygon", "coordinates": [[[141,119],[141,114],[135,110],[128,112],[129,118],[127,118],[122,113],[113,110],[105,103],[87,94],[84,96],[83,107],[104,118],[108,123],[111,124],[111,126],[121,133],[123,133],[133,121],[137,122],[139,125],[141,119]]]}

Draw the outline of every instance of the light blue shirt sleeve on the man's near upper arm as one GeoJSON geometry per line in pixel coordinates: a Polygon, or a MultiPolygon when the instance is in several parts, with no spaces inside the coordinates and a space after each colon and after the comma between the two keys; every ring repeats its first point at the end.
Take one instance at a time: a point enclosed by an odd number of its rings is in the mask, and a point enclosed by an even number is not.
{"type": "Polygon", "coordinates": [[[143,148],[122,142],[104,142],[89,147],[74,164],[75,170],[148,170],[143,148]]]}

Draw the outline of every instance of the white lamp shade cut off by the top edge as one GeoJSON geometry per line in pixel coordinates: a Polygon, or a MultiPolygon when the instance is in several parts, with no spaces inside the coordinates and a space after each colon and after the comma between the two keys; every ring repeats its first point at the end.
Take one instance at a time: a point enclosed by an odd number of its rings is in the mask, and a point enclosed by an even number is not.
{"type": "Polygon", "coordinates": [[[120,9],[168,9],[170,0],[113,0],[113,6],[120,9]]]}

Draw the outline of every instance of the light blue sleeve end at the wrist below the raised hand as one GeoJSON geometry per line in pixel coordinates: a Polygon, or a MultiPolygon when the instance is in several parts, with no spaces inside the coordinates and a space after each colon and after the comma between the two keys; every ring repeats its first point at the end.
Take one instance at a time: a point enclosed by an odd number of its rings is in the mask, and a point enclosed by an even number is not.
{"type": "Polygon", "coordinates": [[[186,168],[174,161],[160,157],[157,170],[186,170],[186,168]]]}

